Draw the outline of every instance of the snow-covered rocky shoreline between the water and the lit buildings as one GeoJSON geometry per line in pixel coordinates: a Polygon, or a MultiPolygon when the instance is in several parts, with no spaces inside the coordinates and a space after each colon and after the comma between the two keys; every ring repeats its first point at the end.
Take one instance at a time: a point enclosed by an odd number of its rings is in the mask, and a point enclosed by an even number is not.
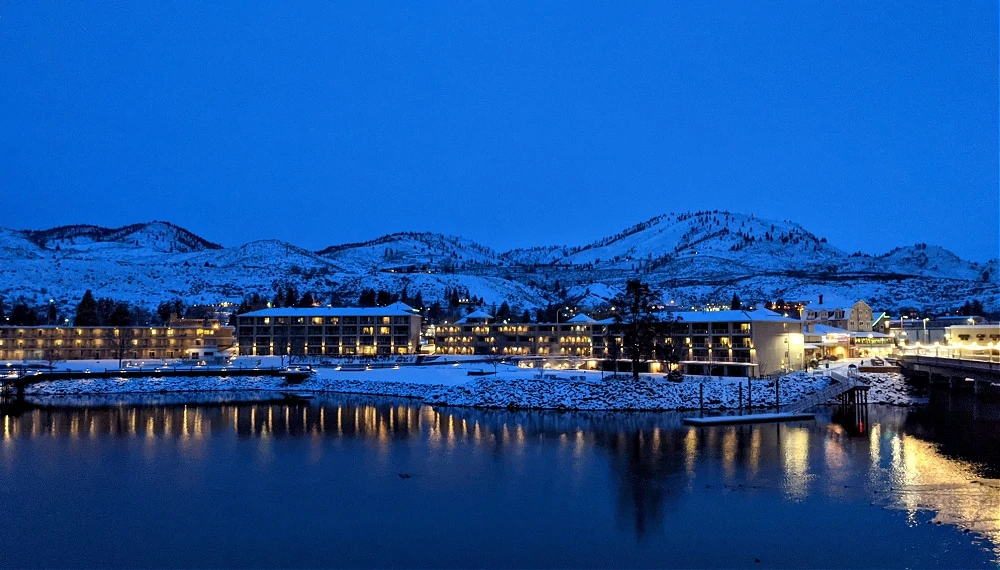
{"type": "MultiPolygon", "coordinates": [[[[746,379],[686,378],[671,382],[656,375],[638,381],[603,378],[599,372],[537,370],[500,366],[497,374],[469,376],[482,365],[453,364],[440,367],[341,371],[320,369],[301,384],[287,384],[272,377],[110,378],[54,380],[29,385],[26,396],[85,396],[118,394],[176,394],[201,392],[276,392],[301,394],[355,394],[419,400],[432,406],[484,409],[533,409],[580,411],[723,411],[749,403],[746,379]]],[[[898,374],[863,374],[872,388],[873,404],[922,403],[908,392],[898,374]]],[[[781,404],[806,398],[830,385],[822,375],[795,372],[780,381],[781,404]]],[[[755,409],[774,408],[775,382],[753,381],[755,409]]]]}

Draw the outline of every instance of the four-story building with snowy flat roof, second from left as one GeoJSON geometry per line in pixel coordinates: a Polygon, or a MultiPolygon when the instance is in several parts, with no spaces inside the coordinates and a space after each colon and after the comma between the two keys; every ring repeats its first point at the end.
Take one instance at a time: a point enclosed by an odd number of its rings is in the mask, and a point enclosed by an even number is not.
{"type": "Polygon", "coordinates": [[[242,355],[385,355],[420,349],[420,314],[403,303],[261,309],[236,320],[242,355]]]}

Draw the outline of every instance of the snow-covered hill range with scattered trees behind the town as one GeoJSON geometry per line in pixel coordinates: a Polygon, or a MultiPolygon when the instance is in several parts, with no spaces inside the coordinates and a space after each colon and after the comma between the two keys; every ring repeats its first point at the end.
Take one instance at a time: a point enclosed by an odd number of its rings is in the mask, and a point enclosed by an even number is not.
{"type": "MultiPolygon", "coordinates": [[[[835,241],[831,238],[831,241],[835,241]]],[[[790,221],[711,211],[664,214],[587,245],[542,245],[498,254],[471,240],[395,233],[310,252],[255,241],[224,248],[167,222],[122,228],[0,228],[0,295],[70,306],[86,289],[155,305],[271,296],[294,284],[320,298],[362,289],[420,292],[425,302],[460,289],[488,304],[597,306],[640,277],[665,302],[697,305],[828,296],[876,309],[947,309],[969,299],[1000,310],[1000,261],[965,261],[932,245],[848,254],[790,221]]]]}

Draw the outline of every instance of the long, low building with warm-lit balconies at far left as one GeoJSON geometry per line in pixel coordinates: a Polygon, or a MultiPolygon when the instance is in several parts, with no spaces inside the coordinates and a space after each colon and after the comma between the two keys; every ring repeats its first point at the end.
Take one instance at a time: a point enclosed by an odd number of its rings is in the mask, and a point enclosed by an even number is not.
{"type": "Polygon", "coordinates": [[[217,321],[153,327],[0,327],[0,360],[205,358],[233,346],[217,321]]]}

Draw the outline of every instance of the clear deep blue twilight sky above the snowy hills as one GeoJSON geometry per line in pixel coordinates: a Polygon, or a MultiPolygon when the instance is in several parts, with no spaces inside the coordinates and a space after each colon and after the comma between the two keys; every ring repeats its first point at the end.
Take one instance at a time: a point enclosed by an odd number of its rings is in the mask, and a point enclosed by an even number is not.
{"type": "Polygon", "coordinates": [[[998,255],[997,4],[0,3],[0,226],[998,255]]]}

